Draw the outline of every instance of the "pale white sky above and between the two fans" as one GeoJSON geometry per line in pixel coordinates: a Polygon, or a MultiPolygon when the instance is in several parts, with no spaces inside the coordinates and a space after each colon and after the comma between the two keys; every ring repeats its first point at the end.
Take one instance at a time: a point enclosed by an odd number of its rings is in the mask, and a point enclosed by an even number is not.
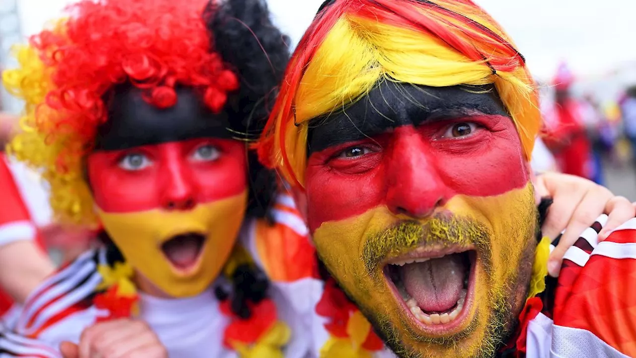
{"type": "MultiPolygon", "coordinates": [[[[0,0],[0,3],[11,0],[0,0]]],[[[70,0],[17,0],[26,36],[59,15],[70,0]]],[[[599,78],[614,68],[636,68],[631,0],[475,0],[508,31],[530,71],[549,80],[560,61],[577,77],[599,78]]],[[[275,22],[298,41],[322,0],[268,0],[275,22]]],[[[635,75],[636,76],[636,75],[635,75]]],[[[636,80],[636,78],[635,78],[636,80]]]]}

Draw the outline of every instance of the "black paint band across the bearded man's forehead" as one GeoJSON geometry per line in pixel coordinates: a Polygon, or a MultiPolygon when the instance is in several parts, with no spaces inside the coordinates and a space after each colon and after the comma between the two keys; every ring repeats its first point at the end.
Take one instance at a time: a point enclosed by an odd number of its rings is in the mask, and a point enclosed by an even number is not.
{"type": "Polygon", "coordinates": [[[471,115],[509,117],[494,85],[428,87],[385,81],[345,110],[312,119],[308,154],[402,125],[471,115]]]}

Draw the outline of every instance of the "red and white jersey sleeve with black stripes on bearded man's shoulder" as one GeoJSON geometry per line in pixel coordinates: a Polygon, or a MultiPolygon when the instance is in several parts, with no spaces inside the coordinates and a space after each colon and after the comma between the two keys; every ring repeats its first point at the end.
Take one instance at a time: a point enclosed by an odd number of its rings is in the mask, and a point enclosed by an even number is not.
{"type": "Polygon", "coordinates": [[[636,356],[636,218],[598,242],[607,215],[563,257],[552,351],[567,357],[636,356]]]}

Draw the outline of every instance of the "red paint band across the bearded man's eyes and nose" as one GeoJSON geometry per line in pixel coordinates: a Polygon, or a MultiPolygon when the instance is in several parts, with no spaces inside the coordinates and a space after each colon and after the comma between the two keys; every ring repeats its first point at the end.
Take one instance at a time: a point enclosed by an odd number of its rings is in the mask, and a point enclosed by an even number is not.
{"type": "Polygon", "coordinates": [[[401,125],[314,152],[305,173],[308,224],[343,220],[386,205],[414,218],[455,194],[494,196],[527,185],[515,125],[472,115],[401,125]]]}

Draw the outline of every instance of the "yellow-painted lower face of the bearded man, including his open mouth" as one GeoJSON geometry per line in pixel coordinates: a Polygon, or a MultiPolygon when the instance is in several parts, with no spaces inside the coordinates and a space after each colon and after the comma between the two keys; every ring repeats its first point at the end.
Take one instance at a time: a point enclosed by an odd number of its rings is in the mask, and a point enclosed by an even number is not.
{"type": "Polygon", "coordinates": [[[400,357],[492,357],[530,281],[532,187],[457,196],[444,209],[423,221],[379,207],[326,222],[314,233],[317,252],[400,357]],[[347,240],[356,235],[358,242],[347,240]]]}

